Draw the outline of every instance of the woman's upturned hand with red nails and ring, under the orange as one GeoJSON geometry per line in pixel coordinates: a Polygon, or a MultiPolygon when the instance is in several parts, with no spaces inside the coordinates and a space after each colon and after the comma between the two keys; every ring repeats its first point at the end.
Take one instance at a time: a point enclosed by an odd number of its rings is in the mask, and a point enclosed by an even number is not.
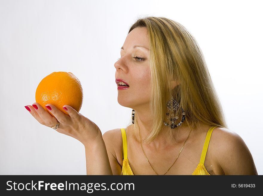
{"type": "Polygon", "coordinates": [[[69,105],[63,106],[68,115],[51,104],[47,104],[46,107],[55,117],[51,116],[39,103],[34,103],[32,106],[27,105],[26,109],[42,125],[52,127],[57,124],[58,120],[59,126],[56,131],[77,139],[84,146],[90,146],[102,138],[99,127],[69,105]]]}

